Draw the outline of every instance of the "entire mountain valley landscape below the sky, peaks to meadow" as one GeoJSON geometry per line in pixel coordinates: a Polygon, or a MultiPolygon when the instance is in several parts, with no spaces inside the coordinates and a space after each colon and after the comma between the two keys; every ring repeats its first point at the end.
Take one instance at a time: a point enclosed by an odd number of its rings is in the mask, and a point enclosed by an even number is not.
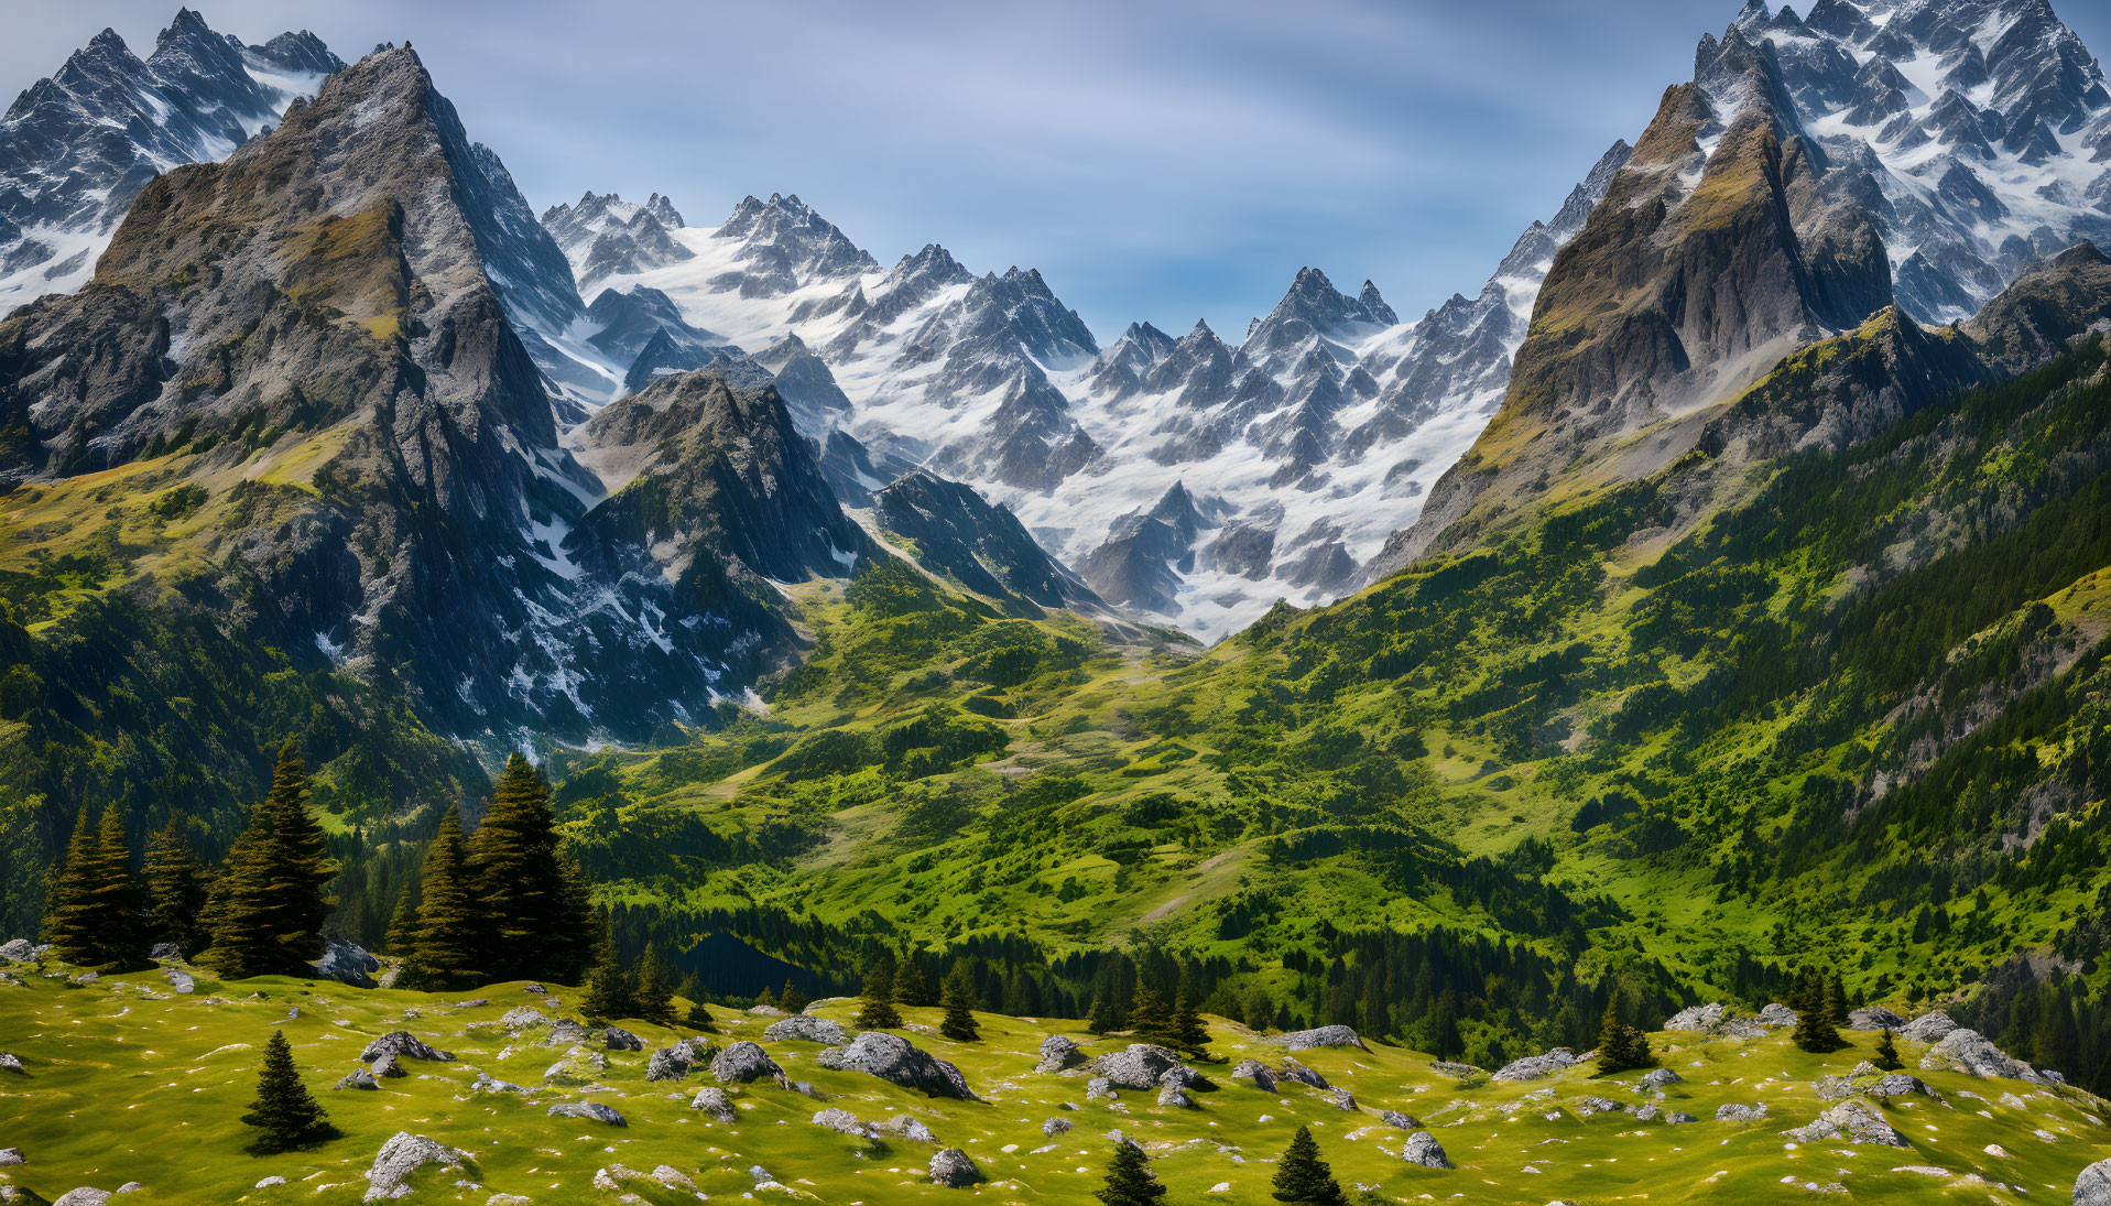
{"type": "Polygon", "coordinates": [[[1235,340],[538,215],[443,84],[0,118],[0,1202],[2111,1206],[2050,4],[1752,0],[1235,340]]]}

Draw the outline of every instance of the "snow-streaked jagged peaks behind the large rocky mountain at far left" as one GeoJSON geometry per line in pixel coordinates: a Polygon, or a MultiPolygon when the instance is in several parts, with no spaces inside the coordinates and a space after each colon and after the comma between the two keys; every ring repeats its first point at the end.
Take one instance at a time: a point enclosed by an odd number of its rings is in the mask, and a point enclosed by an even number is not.
{"type": "Polygon", "coordinates": [[[0,116],[0,313],[84,283],[148,180],[226,158],[342,65],[312,34],[243,46],[190,8],[146,59],[97,34],[0,116]]]}

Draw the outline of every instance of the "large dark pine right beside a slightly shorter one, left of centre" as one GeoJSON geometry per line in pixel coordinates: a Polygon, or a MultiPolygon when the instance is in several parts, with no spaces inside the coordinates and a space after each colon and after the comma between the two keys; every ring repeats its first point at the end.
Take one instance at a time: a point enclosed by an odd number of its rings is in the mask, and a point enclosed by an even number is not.
{"type": "Polygon", "coordinates": [[[507,758],[492,807],[469,841],[492,972],[500,978],[572,982],[593,959],[593,925],[581,887],[557,849],[549,779],[515,752],[507,758]]]}

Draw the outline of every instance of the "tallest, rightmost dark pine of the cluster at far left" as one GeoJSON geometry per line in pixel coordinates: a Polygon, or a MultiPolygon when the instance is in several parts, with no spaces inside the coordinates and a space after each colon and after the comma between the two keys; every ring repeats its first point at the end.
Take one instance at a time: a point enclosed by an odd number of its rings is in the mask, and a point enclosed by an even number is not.
{"type": "Polygon", "coordinates": [[[308,815],[308,767],[287,741],[270,792],[228,851],[213,908],[213,965],[228,980],[300,976],[323,955],[323,919],[334,874],[323,828],[308,815]]]}

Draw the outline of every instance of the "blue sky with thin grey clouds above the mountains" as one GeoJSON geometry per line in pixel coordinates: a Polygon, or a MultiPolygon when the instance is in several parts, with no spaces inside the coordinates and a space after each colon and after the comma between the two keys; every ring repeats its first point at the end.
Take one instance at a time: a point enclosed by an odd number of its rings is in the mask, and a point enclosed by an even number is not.
{"type": "MultiPolygon", "coordinates": [[[[1305,264],[1402,317],[1473,291],[1739,0],[559,4],[205,0],[346,59],[412,40],[536,209],[667,192],[716,224],[796,192],[880,262],[1041,268],[1102,340],[1229,338],[1305,264]]],[[[169,2],[0,0],[0,89],[169,2]]],[[[2060,15],[2098,51],[2111,6],[2060,15]]]]}

